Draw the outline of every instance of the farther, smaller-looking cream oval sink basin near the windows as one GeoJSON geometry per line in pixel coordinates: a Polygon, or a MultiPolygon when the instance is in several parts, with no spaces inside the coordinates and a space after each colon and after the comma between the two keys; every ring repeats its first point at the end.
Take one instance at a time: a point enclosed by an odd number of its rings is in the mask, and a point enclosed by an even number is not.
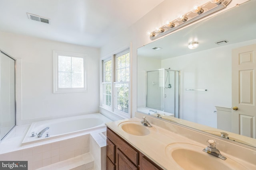
{"type": "Polygon", "coordinates": [[[150,131],[146,128],[146,126],[142,124],[138,125],[135,123],[123,123],[121,124],[121,128],[123,131],[131,135],[145,136],[150,134],[150,131]]]}

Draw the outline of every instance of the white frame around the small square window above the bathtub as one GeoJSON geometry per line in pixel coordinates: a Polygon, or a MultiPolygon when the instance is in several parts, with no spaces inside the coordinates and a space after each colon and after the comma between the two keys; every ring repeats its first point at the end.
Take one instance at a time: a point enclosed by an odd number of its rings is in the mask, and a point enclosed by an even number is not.
{"type": "Polygon", "coordinates": [[[72,92],[87,92],[87,55],[80,53],[72,53],[66,51],[53,51],[53,93],[72,93],[72,92]],[[59,76],[58,76],[58,56],[66,57],[78,57],[83,58],[84,61],[84,87],[83,88],[59,88],[59,76]]]}

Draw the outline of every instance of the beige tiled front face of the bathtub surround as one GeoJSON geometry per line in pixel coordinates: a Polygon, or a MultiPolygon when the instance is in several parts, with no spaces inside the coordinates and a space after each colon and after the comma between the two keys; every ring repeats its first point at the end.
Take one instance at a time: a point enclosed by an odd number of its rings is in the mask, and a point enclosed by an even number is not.
{"type": "Polygon", "coordinates": [[[26,149],[20,147],[21,150],[0,154],[0,160],[27,160],[28,168],[34,170],[88,153],[89,140],[90,134],[87,134],[26,149]]]}

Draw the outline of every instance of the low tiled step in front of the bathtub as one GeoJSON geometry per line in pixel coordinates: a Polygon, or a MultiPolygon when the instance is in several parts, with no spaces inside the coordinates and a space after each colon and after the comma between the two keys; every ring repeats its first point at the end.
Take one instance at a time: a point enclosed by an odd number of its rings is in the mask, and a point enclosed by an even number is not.
{"type": "Polygon", "coordinates": [[[38,170],[93,170],[94,158],[90,152],[39,168],[38,170]]]}

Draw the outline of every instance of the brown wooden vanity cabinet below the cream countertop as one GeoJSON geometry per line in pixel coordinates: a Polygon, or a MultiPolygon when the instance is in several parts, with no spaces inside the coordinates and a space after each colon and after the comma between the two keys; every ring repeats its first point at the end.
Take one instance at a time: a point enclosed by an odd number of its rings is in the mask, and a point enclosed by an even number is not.
{"type": "Polygon", "coordinates": [[[162,170],[107,127],[106,170],[162,170]]]}

